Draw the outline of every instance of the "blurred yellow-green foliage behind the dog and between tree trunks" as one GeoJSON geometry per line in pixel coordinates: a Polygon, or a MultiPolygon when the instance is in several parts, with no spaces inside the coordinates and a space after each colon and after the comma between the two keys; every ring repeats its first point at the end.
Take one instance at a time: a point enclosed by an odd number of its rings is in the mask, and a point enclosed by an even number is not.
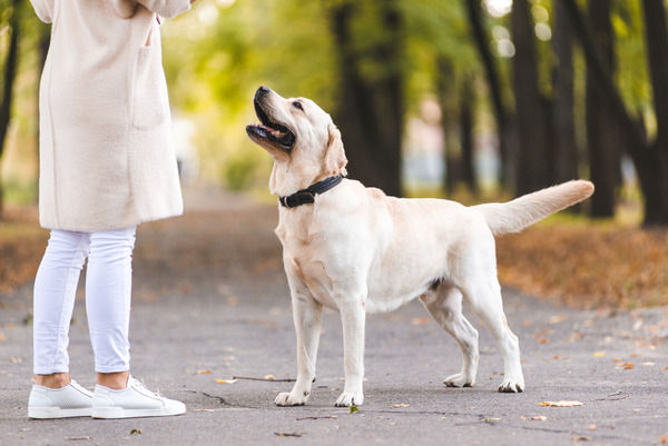
{"type": "MultiPolygon", "coordinates": [[[[451,112],[458,111],[462,79],[473,77],[478,129],[491,127],[487,85],[470,36],[464,0],[394,1],[402,16],[400,32],[404,41],[401,59],[394,61],[371,53],[376,43],[387,41],[391,32],[395,31],[377,24],[382,3],[374,0],[198,0],[190,12],[174,20],[164,20],[164,65],[171,105],[175,115],[195,123],[197,131],[193,142],[205,177],[233,189],[254,185],[266,189],[272,160],[245,135],[246,123],[256,120],[250,100],[259,85],[274,88],[284,96],[313,98],[324,109],[334,110],[340,73],[331,13],[332,8],[344,2],[353,4],[360,12],[355,14],[351,32],[354,33],[352,40],[360,42],[354,51],[365,56],[361,72],[373,80],[381,79],[385,70],[400,70],[404,77],[404,103],[410,116],[419,115],[419,106],[424,98],[436,95],[436,80],[443,76],[436,60],[442,58],[451,63],[453,71],[448,87],[451,112]]],[[[532,6],[542,8],[550,18],[554,1],[532,0],[532,6]]],[[[580,2],[582,9],[584,3],[580,2]]],[[[616,1],[613,4],[616,82],[629,109],[650,123],[651,133],[655,131],[651,127],[654,111],[641,2],[616,1]]],[[[7,51],[6,30],[10,12],[10,1],[0,0],[0,63],[7,51]]],[[[16,102],[9,146],[2,160],[2,174],[9,181],[7,186],[18,189],[28,188],[36,181],[38,41],[49,30],[37,19],[28,2],[23,3],[21,20],[16,102]]],[[[492,32],[507,32],[509,16],[493,18],[483,8],[483,22],[492,53],[497,56],[505,103],[512,108],[509,87],[512,59],[499,57],[498,40],[492,32]]],[[[554,63],[550,42],[537,41],[537,50],[541,89],[549,93],[554,63]]],[[[578,54],[578,98],[583,95],[583,72],[584,63],[578,54]]],[[[580,119],[583,103],[577,100],[577,120],[583,122],[580,119]]],[[[582,127],[578,131],[579,141],[583,142],[582,127]]],[[[13,192],[11,196],[14,196],[13,192]]]]}

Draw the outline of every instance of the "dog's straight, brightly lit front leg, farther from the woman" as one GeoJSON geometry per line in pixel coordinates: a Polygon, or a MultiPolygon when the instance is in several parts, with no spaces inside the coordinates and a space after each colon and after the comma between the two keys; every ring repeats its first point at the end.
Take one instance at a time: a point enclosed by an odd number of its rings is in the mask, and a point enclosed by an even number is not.
{"type": "Polygon", "coordinates": [[[342,303],[341,323],[343,325],[343,356],[345,367],[345,386],[336,399],[336,406],[361,406],[364,403],[362,389],[364,380],[364,324],[366,311],[365,299],[353,299],[342,303]]]}

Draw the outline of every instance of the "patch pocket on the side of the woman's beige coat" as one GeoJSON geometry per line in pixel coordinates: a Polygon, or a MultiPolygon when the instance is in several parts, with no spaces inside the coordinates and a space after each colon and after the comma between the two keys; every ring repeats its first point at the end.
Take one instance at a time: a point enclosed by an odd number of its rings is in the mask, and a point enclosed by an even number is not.
{"type": "Polygon", "coordinates": [[[150,130],[169,116],[167,81],[160,59],[159,47],[139,48],[132,98],[132,126],[139,130],[150,130]]]}

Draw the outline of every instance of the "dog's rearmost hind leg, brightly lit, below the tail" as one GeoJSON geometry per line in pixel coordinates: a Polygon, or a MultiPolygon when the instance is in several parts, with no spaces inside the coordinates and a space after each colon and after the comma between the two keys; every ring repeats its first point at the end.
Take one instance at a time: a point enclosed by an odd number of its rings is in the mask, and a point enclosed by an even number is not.
{"type": "Polygon", "coordinates": [[[494,276],[485,279],[478,277],[475,280],[468,281],[462,287],[462,291],[497,339],[503,355],[504,374],[499,392],[523,392],[524,376],[520,365],[520,344],[518,337],[510,330],[503,314],[499,281],[494,276]]]}

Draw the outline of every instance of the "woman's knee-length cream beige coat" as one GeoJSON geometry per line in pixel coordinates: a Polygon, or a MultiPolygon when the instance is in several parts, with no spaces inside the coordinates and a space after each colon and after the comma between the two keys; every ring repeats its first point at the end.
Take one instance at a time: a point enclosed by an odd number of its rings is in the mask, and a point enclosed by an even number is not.
{"type": "Polygon", "coordinates": [[[40,83],[40,224],[96,231],[180,215],[156,13],[190,0],[31,0],[52,23],[40,83]]]}

